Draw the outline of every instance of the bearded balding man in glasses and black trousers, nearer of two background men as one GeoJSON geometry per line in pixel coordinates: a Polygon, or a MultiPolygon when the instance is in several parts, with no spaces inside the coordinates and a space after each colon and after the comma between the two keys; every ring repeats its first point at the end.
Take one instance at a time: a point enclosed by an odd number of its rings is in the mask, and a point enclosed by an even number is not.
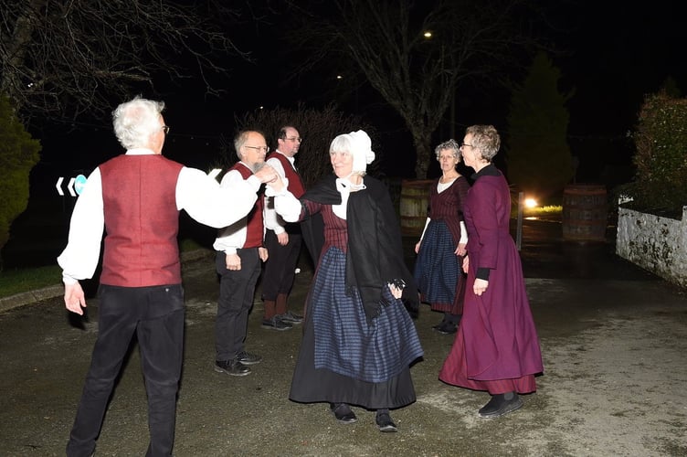
{"type": "MultiPolygon", "coordinates": [[[[220,186],[237,186],[248,181],[265,165],[270,148],[262,133],[243,131],[234,139],[238,162],[222,177],[220,186]]],[[[213,248],[217,250],[216,268],[219,274],[219,300],[215,324],[215,371],[231,376],[246,376],[248,365],[262,360],[261,356],[246,351],[248,312],[253,305],[255,286],[261,271],[261,261],[267,260],[268,250],[263,246],[264,187],[258,191],[258,200],[238,222],[222,228],[213,248]]],[[[233,202],[227,202],[227,205],[233,202]]]]}

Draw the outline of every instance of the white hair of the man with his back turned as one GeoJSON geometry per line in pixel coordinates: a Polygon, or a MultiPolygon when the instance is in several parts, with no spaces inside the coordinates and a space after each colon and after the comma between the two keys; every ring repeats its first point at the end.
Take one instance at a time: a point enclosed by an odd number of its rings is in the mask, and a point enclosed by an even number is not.
{"type": "Polygon", "coordinates": [[[123,102],[112,112],[117,140],[127,150],[147,146],[151,135],[162,128],[160,113],[163,110],[164,101],[135,97],[123,102]]]}

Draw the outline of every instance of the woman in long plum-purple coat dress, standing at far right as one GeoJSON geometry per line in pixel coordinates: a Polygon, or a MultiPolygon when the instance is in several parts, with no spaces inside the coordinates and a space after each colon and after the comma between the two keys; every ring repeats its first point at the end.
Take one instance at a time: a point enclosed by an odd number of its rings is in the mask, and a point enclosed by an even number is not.
{"type": "Polygon", "coordinates": [[[534,376],[544,371],[523,266],[509,231],[510,190],[491,164],[500,145],[491,125],[468,127],[460,145],[465,165],[476,172],[463,207],[468,281],[460,328],[439,372],[446,383],[491,394],[481,418],[522,407],[518,394],[534,392],[534,376]]]}

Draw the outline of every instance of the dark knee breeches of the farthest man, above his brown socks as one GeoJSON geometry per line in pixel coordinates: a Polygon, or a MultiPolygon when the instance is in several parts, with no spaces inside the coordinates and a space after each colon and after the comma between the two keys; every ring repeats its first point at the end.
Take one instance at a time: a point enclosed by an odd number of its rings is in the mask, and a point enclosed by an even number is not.
{"type": "Polygon", "coordinates": [[[293,279],[301,253],[300,230],[289,231],[289,242],[280,245],[273,230],[265,230],[265,247],[270,257],[265,262],[265,272],[262,276],[262,299],[277,300],[277,295],[291,292],[293,279]]]}

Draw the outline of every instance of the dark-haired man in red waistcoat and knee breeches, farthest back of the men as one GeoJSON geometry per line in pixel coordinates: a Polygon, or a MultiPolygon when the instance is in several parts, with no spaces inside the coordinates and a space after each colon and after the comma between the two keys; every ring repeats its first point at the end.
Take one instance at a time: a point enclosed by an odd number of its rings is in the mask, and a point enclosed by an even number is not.
{"type": "MultiPolygon", "coordinates": [[[[277,136],[277,150],[267,160],[267,164],[281,178],[288,179],[287,188],[296,198],[305,193],[301,176],[294,165],[301,142],[301,135],[295,127],[281,127],[277,136]]],[[[265,197],[265,228],[265,246],[270,251],[270,260],[265,263],[262,277],[262,300],[265,305],[262,327],[290,330],[293,324],[303,321],[301,315],[292,313],[287,306],[301,253],[301,225],[285,222],[274,210],[274,197],[265,197]]]]}

